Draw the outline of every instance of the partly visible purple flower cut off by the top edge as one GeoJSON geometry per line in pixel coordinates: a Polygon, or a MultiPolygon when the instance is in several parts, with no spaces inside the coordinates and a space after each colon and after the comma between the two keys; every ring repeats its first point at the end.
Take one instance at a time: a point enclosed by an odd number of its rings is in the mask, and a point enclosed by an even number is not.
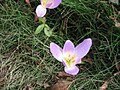
{"type": "Polygon", "coordinates": [[[62,0],[40,0],[40,2],[41,5],[38,5],[36,8],[36,14],[38,17],[43,17],[47,12],[46,8],[54,9],[58,7],[62,0]]]}

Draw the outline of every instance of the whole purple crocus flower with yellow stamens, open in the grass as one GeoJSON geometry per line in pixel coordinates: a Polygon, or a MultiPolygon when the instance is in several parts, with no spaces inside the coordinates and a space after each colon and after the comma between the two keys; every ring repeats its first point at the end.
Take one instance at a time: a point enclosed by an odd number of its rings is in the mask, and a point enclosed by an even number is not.
{"type": "Polygon", "coordinates": [[[89,52],[92,45],[90,38],[85,39],[82,43],[77,45],[67,40],[63,49],[55,43],[50,43],[50,52],[58,61],[62,62],[66,73],[76,75],[79,72],[79,68],[76,64],[81,63],[81,59],[89,52]]]}

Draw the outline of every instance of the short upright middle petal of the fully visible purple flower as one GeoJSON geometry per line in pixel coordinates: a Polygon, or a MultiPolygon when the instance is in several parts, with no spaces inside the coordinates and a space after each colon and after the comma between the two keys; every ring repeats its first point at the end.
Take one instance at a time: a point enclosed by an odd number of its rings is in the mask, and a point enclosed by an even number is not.
{"type": "Polygon", "coordinates": [[[63,53],[67,53],[67,52],[70,53],[73,51],[74,51],[74,44],[70,40],[67,40],[63,47],[63,53]]]}

